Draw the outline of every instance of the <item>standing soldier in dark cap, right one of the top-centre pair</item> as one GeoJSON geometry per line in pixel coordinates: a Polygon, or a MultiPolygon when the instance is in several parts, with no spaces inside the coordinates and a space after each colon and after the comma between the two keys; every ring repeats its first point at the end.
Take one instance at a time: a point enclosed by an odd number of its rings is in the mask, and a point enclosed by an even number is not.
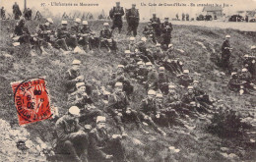
{"type": "Polygon", "coordinates": [[[136,9],[135,7],[136,4],[132,4],[132,8],[126,12],[126,20],[128,23],[127,35],[130,35],[131,31],[133,31],[134,36],[137,35],[137,28],[140,22],[140,14],[139,9],[136,9]]]}

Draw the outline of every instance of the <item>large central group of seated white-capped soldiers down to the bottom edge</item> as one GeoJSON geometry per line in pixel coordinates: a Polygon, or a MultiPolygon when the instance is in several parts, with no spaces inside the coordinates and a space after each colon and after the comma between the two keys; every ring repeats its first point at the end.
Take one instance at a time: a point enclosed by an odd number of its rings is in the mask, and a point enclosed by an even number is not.
{"type": "Polygon", "coordinates": [[[143,134],[150,134],[144,128],[147,125],[165,136],[163,127],[185,127],[186,120],[213,111],[213,101],[189,70],[183,70],[173,45],[162,50],[159,43],[145,46],[149,41],[142,37],[136,42],[130,37],[123,59],[105,88],[85,79],[80,72],[81,61],[72,62],[64,76],[69,109],[56,122],[56,152],[68,154],[72,161],[127,161],[121,139],[128,137],[128,123],[135,123],[143,134]],[[131,104],[135,84],[146,91],[139,107],[131,104]],[[106,131],[106,120],[111,119],[120,134],[106,131]]]}

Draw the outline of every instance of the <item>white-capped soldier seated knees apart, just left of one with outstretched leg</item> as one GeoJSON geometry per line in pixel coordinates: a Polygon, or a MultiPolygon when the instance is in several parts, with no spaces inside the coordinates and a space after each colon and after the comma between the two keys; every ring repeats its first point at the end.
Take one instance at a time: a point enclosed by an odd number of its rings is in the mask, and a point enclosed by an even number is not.
{"type": "MultiPolygon", "coordinates": [[[[107,108],[121,134],[126,136],[123,126],[124,121],[135,122],[139,129],[142,129],[142,126],[137,111],[129,107],[128,97],[122,89],[122,82],[116,82],[114,92],[109,96],[107,108]]],[[[142,131],[144,130],[142,129],[142,131]]]]}

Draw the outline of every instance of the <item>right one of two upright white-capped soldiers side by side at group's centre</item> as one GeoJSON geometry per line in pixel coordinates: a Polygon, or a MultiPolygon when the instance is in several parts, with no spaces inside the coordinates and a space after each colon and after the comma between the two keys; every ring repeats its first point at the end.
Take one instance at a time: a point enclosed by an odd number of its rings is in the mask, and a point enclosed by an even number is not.
{"type": "Polygon", "coordinates": [[[168,77],[165,74],[165,69],[164,67],[160,67],[159,71],[159,86],[160,86],[160,91],[162,94],[166,95],[168,93],[168,77]]]}

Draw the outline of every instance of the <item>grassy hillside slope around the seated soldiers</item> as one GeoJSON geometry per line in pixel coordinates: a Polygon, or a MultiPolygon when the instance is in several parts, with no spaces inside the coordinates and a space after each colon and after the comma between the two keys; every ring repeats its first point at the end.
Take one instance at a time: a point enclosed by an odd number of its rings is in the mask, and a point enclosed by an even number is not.
{"type": "MultiPolygon", "coordinates": [[[[7,27],[14,25],[15,22],[6,23],[1,22],[2,36],[7,37],[7,27]]],[[[36,24],[36,23],[35,23],[36,24]]],[[[100,22],[92,23],[98,27],[100,22]]],[[[30,27],[34,28],[35,25],[30,23],[30,27]]],[[[139,32],[142,31],[141,25],[139,32]]],[[[125,26],[126,27],[126,26],[125,26]]],[[[233,46],[233,55],[235,58],[241,57],[248,51],[251,44],[255,44],[256,40],[251,34],[240,32],[232,29],[211,29],[207,27],[186,27],[174,26],[172,43],[176,49],[183,49],[184,54],[177,53],[181,60],[185,62],[185,67],[193,74],[194,78],[203,81],[203,86],[208,89],[211,96],[223,99],[227,105],[233,109],[246,109],[248,107],[255,107],[255,97],[250,95],[238,96],[225,87],[227,77],[220,77],[214,73],[218,68],[209,61],[212,48],[216,47],[218,51],[221,43],[223,42],[224,35],[228,33],[232,36],[231,45],[233,46]],[[201,41],[207,47],[203,49],[201,46],[194,43],[194,41],[201,41]],[[200,75],[198,75],[200,74],[200,75]]],[[[255,33],[254,33],[255,37],[255,33]]],[[[86,55],[68,55],[61,56],[58,53],[53,53],[50,56],[37,56],[32,59],[18,59],[16,54],[20,52],[10,48],[9,39],[1,39],[2,51],[14,51],[15,61],[14,66],[9,66],[6,60],[1,60],[1,76],[0,76],[0,117],[9,121],[13,127],[17,127],[17,114],[14,107],[13,95],[11,91],[11,81],[21,81],[28,78],[35,78],[39,76],[46,76],[48,89],[50,91],[51,104],[60,107],[60,112],[63,114],[66,107],[65,94],[63,91],[63,73],[68,69],[73,59],[80,59],[83,62],[82,73],[87,79],[96,79],[99,84],[104,85],[108,81],[111,72],[116,65],[120,62],[121,53],[117,55],[109,55],[104,52],[96,52],[92,56],[86,55]]],[[[124,35],[119,36],[119,48],[124,48],[127,42],[127,37],[124,35]]],[[[4,53],[4,52],[2,52],[4,53]]],[[[237,59],[233,59],[235,65],[238,67],[237,59]]],[[[141,86],[136,85],[136,98],[134,99],[134,106],[137,107],[139,101],[144,96],[144,90],[141,86]]],[[[192,121],[191,121],[192,123],[192,121]]],[[[112,121],[109,120],[112,125],[112,121]]],[[[129,139],[124,143],[127,147],[128,157],[131,161],[225,161],[219,153],[221,146],[233,147],[232,141],[222,140],[221,138],[209,135],[204,132],[204,125],[202,122],[193,121],[193,124],[198,126],[196,130],[190,134],[181,134],[182,128],[173,128],[168,133],[167,137],[162,137],[151,131],[151,135],[142,135],[140,132],[134,130],[132,126],[128,125],[130,130],[129,135],[140,139],[145,146],[137,146],[130,142],[129,139]],[[178,133],[174,133],[177,131],[178,133]],[[167,149],[168,146],[173,145],[179,148],[179,153],[170,153],[167,149]]],[[[53,123],[44,121],[34,123],[26,126],[32,135],[39,135],[43,140],[50,141],[53,123]],[[46,130],[46,131],[45,131],[46,130]]],[[[115,130],[114,130],[115,131],[115,130]]],[[[183,130],[185,133],[187,130],[183,130]]],[[[242,146],[242,145],[241,145],[242,146]]],[[[236,148],[231,149],[234,151],[236,148]]],[[[235,153],[235,152],[234,152],[235,153]]],[[[255,160],[255,150],[247,149],[245,154],[239,154],[241,159],[255,160]]]]}

